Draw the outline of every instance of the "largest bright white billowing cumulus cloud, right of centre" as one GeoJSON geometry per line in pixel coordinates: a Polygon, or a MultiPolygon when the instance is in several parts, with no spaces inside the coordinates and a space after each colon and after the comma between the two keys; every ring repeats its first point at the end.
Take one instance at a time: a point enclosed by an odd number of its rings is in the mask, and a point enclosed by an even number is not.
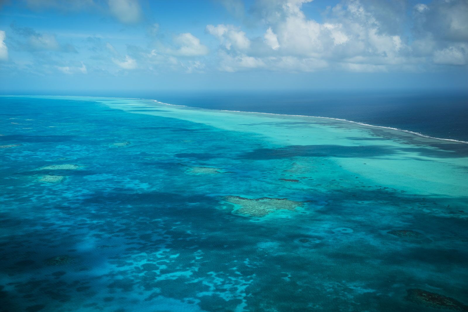
{"type": "MultiPolygon", "coordinates": [[[[249,40],[233,25],[207,25],[207,32],[220,40],[231,58],[227,62],[223,57],[222,63],[228,65],[221,68],[235,71],[235,66],[249,67],[239,61],[247,61],[248,57],[262,61],[265,68],[290,71],[314,71],[333,65],[344,68],[341,63],[356,57],[362,64],[402,62],[400,53],[407,50],[402,37],[383,31],[382,24],[359,0],[345,0],[331,8],[323,23],[307,18],[302,11],[307,2],[311,0],[258,0],[255,9],[266,26],[261,43],[249,40]]],[[[364,66],[346,68],[358,70],[364,66]]]]}

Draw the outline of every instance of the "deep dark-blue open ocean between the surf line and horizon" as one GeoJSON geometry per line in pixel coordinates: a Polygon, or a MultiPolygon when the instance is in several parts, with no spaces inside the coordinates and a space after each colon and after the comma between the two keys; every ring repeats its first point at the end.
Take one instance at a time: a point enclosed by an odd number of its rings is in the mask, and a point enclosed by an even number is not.
{"type": "Polygon", "coordinates": [[[342,118],[468,141],[466,92],[162,92],[145,96],[206,109],[342,118]]]}

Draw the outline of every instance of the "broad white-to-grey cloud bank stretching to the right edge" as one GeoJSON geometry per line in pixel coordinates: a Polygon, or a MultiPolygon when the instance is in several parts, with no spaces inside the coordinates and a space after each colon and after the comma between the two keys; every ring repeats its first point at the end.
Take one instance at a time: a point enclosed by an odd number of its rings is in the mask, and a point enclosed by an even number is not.
{"type": "Polygon", "coordinates": [[[466,0],[434,0],[407,10],[403,0],[343,0],[324,12],[322,22],[304,13],[311,1],[256,0],[251,12],[265,27],[263,39],[248,38],[234,25],[207,25],[224,50],[220,68],[375,72],[467,64],[466,0]],[[414,27],[409,33],[402,24],[414,27]],[[249,59],[256,65],[245,66],[250,63],[242,60],[249,59]]]}

